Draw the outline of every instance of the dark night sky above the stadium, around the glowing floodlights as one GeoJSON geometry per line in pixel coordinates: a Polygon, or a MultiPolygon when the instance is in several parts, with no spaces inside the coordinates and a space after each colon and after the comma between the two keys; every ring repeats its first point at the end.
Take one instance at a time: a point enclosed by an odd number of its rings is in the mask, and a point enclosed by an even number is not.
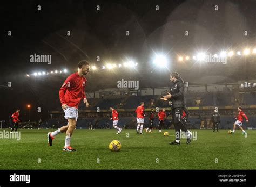
{"type": "MultiPolygon", "coordinates": [[[[80,60],[102,66],[129,57],[137,70],[91,72],[87,90],[116,87],[116,80],[139,80],[141,87],[164,87],[170,71],[179,71],[192,84],[238,81],[255,78],[255,57],[221,64],[181,64],[177,55],[198,51],[218,53],[256,45],[256,1],[8,1],[0,7],[0,85],[11,81],[12,90],[2,91],[1,103],[13,111],[41,97],[36,86],[58,89],[65,76],[38,80],[25,74],[68,68],[72,73],[80,60]],[[37,6],[41,6],[41,11],[37,6]],[[96,6],[100,6],[100,11],[96,6]],[[159,11],[156,11],[159,5],[159,11]],[[218,11],[214,6],[218,6],[218,11]],[[11,31],[11,37],[8,36],[11,31]],[[67,36],[66,32],[71,35],[67,36]],[[126,31],[130,32],[129,37],[126,31]],[[185,31],[189,32],[185,36],[185,31]],[[248,32],[248,36],[244,35],[248,32]],[[152,65],[156,53],[167,54],[169,70],[152,65]],[[31,54],[50,54],[52,63],[31,63],[31,54]],[[100,62],[96,61],[100,56],[100,62]],[[245,67],[246,66],[246,67],[245,67]],[[3,92],[5,95],[3,95],[3,92]],[[38,95],[39,94],[39,95],[38,95]],[[13,102],[18,95],[23,98],[13,102]],[[4,98],[4,97],[8,97],[4,98]],[[12,99],[10,99],[12,98],[12,99]]],[[[1,89],[1,88],[0,88],[1,89]]],[[[3,90],[3,89],[2,89],[3,90]]],[[[57,93],[54,97],[56,97],[57,93]]],[[[50,96],[48,96],[50,97],[50,96]]],[[[34,101],[33,101],[34,102],[34,101]]],[[[3,107],[2,107],[3,109],[3,107]]],[[[47,108],[45,108],[47,110],[47,108]]],[[[5,116],[6,113],[5,112],[5,116]]],[[[2,112],[1,112],[2,113],[2,112]]],[[[4,116],[4,117],[5,117],[4,116]]]]}

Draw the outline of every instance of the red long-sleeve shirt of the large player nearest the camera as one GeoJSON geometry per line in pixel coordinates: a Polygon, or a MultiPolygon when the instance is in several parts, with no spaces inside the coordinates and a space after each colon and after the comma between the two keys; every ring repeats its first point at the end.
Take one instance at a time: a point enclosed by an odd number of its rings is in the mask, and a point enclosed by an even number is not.
{"type": "Polygon", "coordinates": [[[80,100],[86,98],[84,91],[86,82],[87,79],[84,76],[79,76],[78,73],[73,73],[66,78],[59,90],[60,103],[77,108],[80,100]]]}

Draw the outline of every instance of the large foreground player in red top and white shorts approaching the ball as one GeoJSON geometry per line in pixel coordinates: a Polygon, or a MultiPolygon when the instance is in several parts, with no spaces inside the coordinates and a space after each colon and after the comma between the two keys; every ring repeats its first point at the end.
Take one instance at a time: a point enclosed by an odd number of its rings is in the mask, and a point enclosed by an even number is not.
{"type": "Polygon", "coordinates": [[[89,107],[89,103],[87,102],[84,89],[86,87],[86,78],[84,75],[87,75],[90,70],[90,65],[87,61],[83,60],[78,63],[78,72],[71,74],[68,78],[66,78],[62,87],[59,90],[59,99],[62,104],[62,109],[64,110],[65,119],[68,119],[68,125],[65,125],[54,132],[49,132],[48,143],[52,146],[52,140],[54,136],[59,133],[66,133],[65,138],[65,146],[63,148],[64,151],[75,151],[70,146],[70,140],[73,133],[73,130],[76,127],[76,122],[78,118],[78,105],[80,100],[83,98],[86,107],[89,107]]]}

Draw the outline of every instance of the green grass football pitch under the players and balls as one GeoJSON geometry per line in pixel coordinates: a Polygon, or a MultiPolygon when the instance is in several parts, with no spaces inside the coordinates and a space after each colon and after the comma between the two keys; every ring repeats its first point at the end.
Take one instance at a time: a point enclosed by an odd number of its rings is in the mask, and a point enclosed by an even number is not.
{"type": "MultiPolygon", "coordinates": [[[[9,130],[6,130],[9,131],[9,130]]],[[[52,147],[46,133],[51,130],[18,130],[21,140],[0,139],[0,169],[256,169],[256,131],[197,132],[186,145],[169,145],[174,130],[165,137],[158,130],[143,135],[135,130],[75,130],[71,146],[76,152],[63,152],[65,134],[58,134],[52,147]],[[109,143],[119,140],[120,152],[111,152],[109,143]]]]}

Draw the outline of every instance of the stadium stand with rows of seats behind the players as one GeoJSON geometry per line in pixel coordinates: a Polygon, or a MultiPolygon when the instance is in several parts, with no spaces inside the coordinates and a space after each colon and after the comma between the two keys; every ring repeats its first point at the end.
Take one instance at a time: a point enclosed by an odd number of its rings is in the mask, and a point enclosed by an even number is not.
{"type": "MultiPolygon", "coordinates": [[[[110,106],[116,107],[119,112],[119,123],[122,128],[134,128],[136,126],[136,116],[134,110],[140,102],[145,102],[146,114],[150,108],[167,108],[167,113],[170,113],[171,102],[163,102],[160,100],[161,93],[166,88],[158,91],[158,95],[132,95],[131,93],[125,95],[99,95],[99,98],[88,98],[90,103],[89,109],[86,109],[83,102],[80,103],[78,109],[79,118],[77,122],[77,128],[88,128],[89,121],[91,121],[93,127],[96,128],[112,128],[112,121],[110,121],[111,111],[110,106]],[[96,108],[100,108],[100,112],[96,111],[96,108]],[[98,125],[96,125],[98,124],[98,125]]],[[[211,89],[212,90],[212,89],[211,89]]],[[[213,89],[214,90],[214,89],[213,89]]],[[[211,128],[210,123],[213,107],[220,107],[221,124],[220,128],[231,129],[233,127],[234,118],[237,115],[236,107],[239,105],[245,106],[245,112],[250,119],[250,123],[244,123],[245,128],[256,128],[256,93],[244,90],[227,89],[227,91],[206,91],[201,89],[199,91],[186,91],[186,106],[190,109],[190,118],[188,120],[188,128],[211,128]],[[202,91],[203,90],[203,91],[202,91]],[[250,104],[251,106],[249,106],[250,104]]],[[[139,93],[139,92],[138,92],[139,93]]],[[[92,94],[91,94],[92,95],[92,94]]],[[[58,106],[59,103],[56,102],[58,106]]],[[[57,128],[66,124],[66,120],[63,118],[64,114],[59,110],[59,106],[55,107],[58,112],[52,113],[52,118],[45,120],[43,125],[46,128],[57,128]],[[59,125],[58,125],[59,124],[59,125]]],[[[50,112],[51,113],[51,112],[50,112]]],[[[147,117],[144,118],[144,124],[149,124],[147,117]]],[[[154,124],[158,125],[158,118],[154,119],[154,124]]],[[[166,125],[169,128],[173,128],[172,121],[166,119],[166,125]]]]}

